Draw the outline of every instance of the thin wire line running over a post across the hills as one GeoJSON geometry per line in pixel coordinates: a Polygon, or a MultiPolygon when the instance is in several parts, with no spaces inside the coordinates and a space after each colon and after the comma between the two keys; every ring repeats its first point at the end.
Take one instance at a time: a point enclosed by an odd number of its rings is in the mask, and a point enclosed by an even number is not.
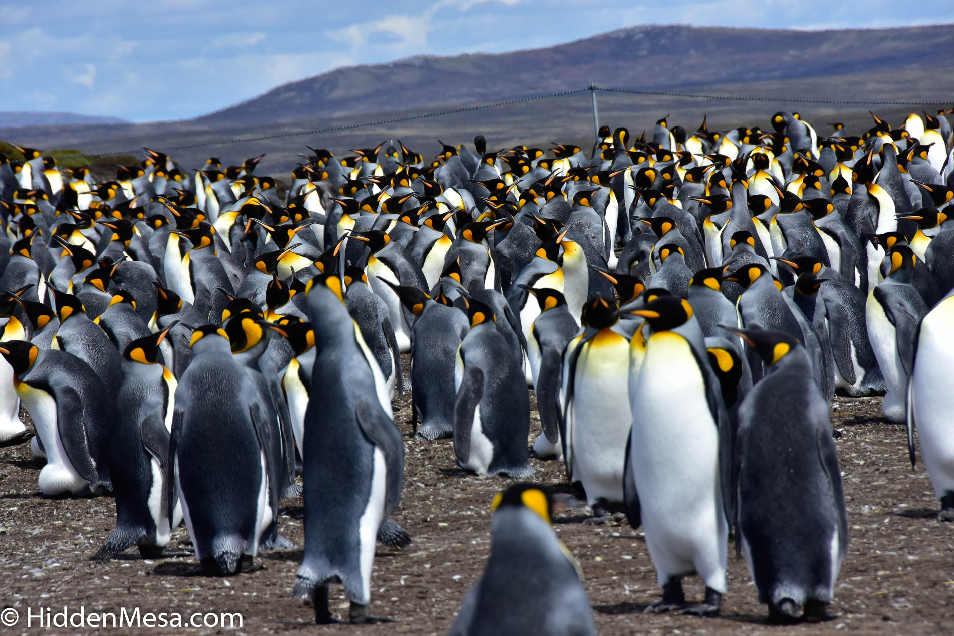
{"type": "MultiPolygon", "coordinates": [[[[491,108],[500,108],[503,106],[512,106],[514,104],[523,104],[526,102],[536,101],[539,99],[550,99],[553,97],[564,97],[567,95],[578,94],[581,92],[591,92],[595,95],[596,92],[615,92],[615,93],[629,93],[636,95],[653,95],[661,97],[684,97],[689,99],[719,99],[719,100],[731,100],[731,101],[762,101],[762,102],[778,102],[782,104],[837,104],[837,105],[857,105],[857,106],[941,106],[944,104],[951,103],[954,101],[954,97],[949,100],[938,100],[938,101],[891,101],[891,100],[852,100],[852,99],[806,99],[806,98],[789,98],[789,97],[764,97],[764,96],[743,96],[743,95],[714,95],[714,94],[701,94],[693,92],[668,92],[668,91],[643,91],[637,89],[615,89],[597,86],[596,84],[590,84],[590,86],[582,89],[574,89],[571,91],[560,91],[560,92],[548,92],[541,95],[531,95],[528,97],[517,97],[514,99],[507,99],[499,102],[491,102],[487,104],[477,104],[474,106],[463,106],[460,108],[454,109],[444,109],[441,111],[433,111],[430,113],[417,113],[404,115],[402,117],[391,117],[388,119],[378,119],[375,121],[363,121],[355,124],[343,124],[340,126],[328,126],[325,128],[316,128],[307,131],[290,131],[285,133],[272,133],[272,134],[259,134],[253,137],[230,137],[226,139],[214,139],[211,141],[197,141],[188,144],[175,144],[172,146],[156,146],[152,150],[170,152],[176,150],[188,150],[192,148],[202,148],[206,146],[222,146],[226,144],[238,144],[238,143],[247,143],[252,141],[264,141],[267,139],[279,139],[281,137],[295,137],[309,134],[321,134],[321,133],[337,133],[340,131],[350,131],[358,128],[367,128],[371,126],[383,126],[386,124],[397,124],[405,121],[414,121],[416,119],[426,119],[428,117],[440,117],[448,114],[460,114],[460,113],[471,113],[473,111],[483,111],[491,108]]],[[[82,153],[82,154],[60,154],[61,158],[69,157],[78,157],[78,156],[111,156],[114,154],[135,154],[141,151],[141,148],[133,149],[124,149],[124,150],[114,150],[114,151],[103,151],[98,153],[82,153]]]]}

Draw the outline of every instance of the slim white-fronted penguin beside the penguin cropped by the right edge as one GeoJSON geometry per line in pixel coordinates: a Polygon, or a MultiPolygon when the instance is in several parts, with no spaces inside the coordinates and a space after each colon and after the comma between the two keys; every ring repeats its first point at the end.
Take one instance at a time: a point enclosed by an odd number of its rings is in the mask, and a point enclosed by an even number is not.
{"type": "Polygon", "coordinates": [[[890,272],[868,293],[864,318],[868,341],[878,359],[887,389],[881,412],[890,421],[905,420],[904,400],[914,360],[918,325],[927,314],[923,297],[911,284],[917,256],[911,248],[896,245],[884,256],[890,272]]]}

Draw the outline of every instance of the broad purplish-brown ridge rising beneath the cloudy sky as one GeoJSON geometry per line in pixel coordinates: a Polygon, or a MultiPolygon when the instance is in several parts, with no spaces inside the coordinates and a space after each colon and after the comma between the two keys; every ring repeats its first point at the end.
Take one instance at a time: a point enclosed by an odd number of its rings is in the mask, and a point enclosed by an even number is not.
{"type": "MultiPolygon", "coordinates": [[[[690,89],[718,84],[873,74],[866,98],[881,96],[885,74],[949,66],[952,25],[793,31],[729,27],[637,26],[542,49],[453,56],[415,55],[386,64],[342,67],[284,84],[197,117],[208,125],[287,123],[339,115],[479,104],[596,84],[690,89]]],[[[950,82],[942,82],[942,84],[950,82]]],[[[802,97],[831,97],[819,83],[802,97]]],[[[944,92],[943,86],[938,86],[944,92]]],[[[949,92],[952,88],[947,86],[949,92]]],[[[851,91],[857,98],[858,86],[851,91]]],[[[937,95],[941,97],[941,95],[937,95]]],[[[954,98],[954,95],[945,98],[954,98]]]]}

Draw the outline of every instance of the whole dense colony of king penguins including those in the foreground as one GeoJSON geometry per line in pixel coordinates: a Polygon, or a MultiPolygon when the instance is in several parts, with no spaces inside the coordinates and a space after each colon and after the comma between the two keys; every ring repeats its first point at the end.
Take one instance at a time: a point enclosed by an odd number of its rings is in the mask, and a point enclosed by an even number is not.
{"type": "MultiPolygon", "coordinates": [[[[163,555],[185,523],[202,570],[288,547],[294,594],[368,613],[375,544],[410,538],[404,445],[452,438],[461,467],[529,479],[565,463],[599,521],[642,525],[662,599],[719,611],[730,532],[760,603],[821,620],[848,541],[829,406],[884,394],[954,521],[954,139],[945,113],[820,138],[771,128],[652,139],[601,129],[475,153],[400,141],[311,149],[282,200],[259,157],[195,173],[166,154],[95,183],[0,155],[0,441],[46,458],[47,496],[112,492],[94,560],[163,555]],[[410,355],[409,381],[401,355],[410,355]],[[303,488],[297,485],[301,476],[303,488]],[[697,574],[705,598],[687,603],[697,574]]],[[[550,528],[566,504],[518,483],[491,504],[483,578],[453,634],[594,633],[550,528]]]]}

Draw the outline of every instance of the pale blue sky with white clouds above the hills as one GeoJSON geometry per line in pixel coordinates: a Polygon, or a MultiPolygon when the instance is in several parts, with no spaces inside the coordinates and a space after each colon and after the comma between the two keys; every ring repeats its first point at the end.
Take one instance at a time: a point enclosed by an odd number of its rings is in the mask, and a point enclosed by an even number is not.
{"type": "Polygon", "coordinates": [[[182,119],[341,66],[545,47],[639,24],[947,23],[949,0],[0,0],[0,111],[182,119]]]}

